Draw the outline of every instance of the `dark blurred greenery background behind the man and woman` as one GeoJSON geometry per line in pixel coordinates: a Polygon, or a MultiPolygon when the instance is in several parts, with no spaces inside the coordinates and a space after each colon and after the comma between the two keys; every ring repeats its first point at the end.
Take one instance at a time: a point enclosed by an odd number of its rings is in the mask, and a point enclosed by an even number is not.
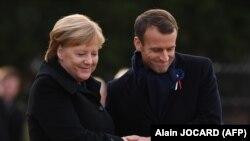
{"type": "Polygon", "coordinates": [[[149,8],[163,8],[175,16],[180,27],[177,52],[214,62],[223,122],[249,124],[249,0],[1,0],[0,67],[11,65],[20,71],[17,99],[27,104],[49,32],[59,18],[80,13],[99,23],[107,41],[94,75],[109,81],[120,68],[130,66],[134,20],[149,8]]]}

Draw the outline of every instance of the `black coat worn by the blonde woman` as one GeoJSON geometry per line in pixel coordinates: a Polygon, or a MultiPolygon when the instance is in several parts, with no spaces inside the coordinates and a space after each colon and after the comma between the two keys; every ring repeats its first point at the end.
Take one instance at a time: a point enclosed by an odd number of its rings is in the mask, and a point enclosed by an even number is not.
{"type": "Polygon", "coordinates": [[[28,103],[30,141],[121,141],[100,103],[100,82],[92,77],[86,87],[58,63],[43,63],[28,103]]]}

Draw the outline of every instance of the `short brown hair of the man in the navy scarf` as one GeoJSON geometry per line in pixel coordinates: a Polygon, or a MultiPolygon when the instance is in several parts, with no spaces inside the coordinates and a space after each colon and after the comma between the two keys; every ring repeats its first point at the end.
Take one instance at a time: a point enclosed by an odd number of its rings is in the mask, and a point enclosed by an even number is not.
{"type": "Polygon", "coordinates": [[[178,31],[175,18],[166,10],[150,9],[140,14],[134,24],[134,34],[143,43],[143,36],[148,27],[155,26],[160,33],[168,34],[178,31]]]}

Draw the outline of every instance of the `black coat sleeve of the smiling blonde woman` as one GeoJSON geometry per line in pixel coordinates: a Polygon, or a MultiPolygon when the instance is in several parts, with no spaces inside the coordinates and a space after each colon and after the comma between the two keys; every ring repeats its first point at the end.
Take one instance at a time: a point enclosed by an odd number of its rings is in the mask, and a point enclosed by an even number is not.
{"type": "Polygon", "coordinates": [[[122,141],[120,137],[82,127],[71,95],[62,94],[58,88],[53,79],[40,77],[30,96],[30,113],[51,141],[122,141]]]}

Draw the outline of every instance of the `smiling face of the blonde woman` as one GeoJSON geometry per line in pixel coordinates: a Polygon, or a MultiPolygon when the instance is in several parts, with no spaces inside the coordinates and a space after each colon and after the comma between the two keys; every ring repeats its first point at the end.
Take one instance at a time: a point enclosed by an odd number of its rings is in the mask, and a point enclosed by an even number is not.
{"type": "Polygon", "coordinates": [[[58,61],[76,81],[84,81],[96,69],[99,48],[96,40],[75,46],[59,46],[58,61]]]}

